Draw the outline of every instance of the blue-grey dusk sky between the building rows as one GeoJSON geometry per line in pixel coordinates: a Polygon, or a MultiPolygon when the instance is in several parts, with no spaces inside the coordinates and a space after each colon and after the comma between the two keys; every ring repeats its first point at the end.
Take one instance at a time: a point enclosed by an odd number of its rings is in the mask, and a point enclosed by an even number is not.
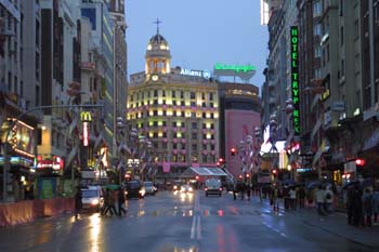
{"type": "Polygon", "coordinates": [[[250,64],[257,67],[250,83],[262,85],[269,34],[260,25],[259,0],[129,0],[126,10],[129,75],[144,70],[159,18],[171,67],[212,70],[215,63],[250,64]]]}

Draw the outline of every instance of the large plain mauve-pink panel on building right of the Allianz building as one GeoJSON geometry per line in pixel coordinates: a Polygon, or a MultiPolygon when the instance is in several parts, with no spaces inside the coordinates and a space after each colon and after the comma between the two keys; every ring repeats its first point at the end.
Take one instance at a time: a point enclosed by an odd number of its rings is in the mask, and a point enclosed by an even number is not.
{"type": "MultiPolygon", "coordinates": [[[[243,173],[243,167],[251,165],[251,159],[245,160],[243,156],[249,157],[249,155],[243,154],[238,146],[240,141],[246,141],[248,135],[254,135],[254,128],[261,125],[260,114],[251,110],[225,110],[225,162],[227,170],[234,177],[238,177],[243,173]],[[231,149],[237,148],[236,155],[232,156],[231,149]]],[[[245,149],[245,151],[248,151],[245,149]]]]}

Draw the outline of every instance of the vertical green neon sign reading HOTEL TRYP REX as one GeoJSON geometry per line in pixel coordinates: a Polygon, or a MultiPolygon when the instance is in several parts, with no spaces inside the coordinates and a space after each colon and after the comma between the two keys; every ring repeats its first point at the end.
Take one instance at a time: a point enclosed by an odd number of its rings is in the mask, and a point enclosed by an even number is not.
{"type": "Polygon", "coordinates": [[[300,97],[299,97],[299,29],[291,26],[291,90],[293,103],[293,131],[300,135],[300,97]]]}

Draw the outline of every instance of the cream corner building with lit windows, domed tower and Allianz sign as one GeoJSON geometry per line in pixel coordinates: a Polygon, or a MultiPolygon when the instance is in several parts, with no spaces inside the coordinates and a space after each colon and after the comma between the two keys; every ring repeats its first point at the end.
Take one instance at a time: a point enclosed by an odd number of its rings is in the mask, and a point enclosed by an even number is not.
{"type": "Polygon", "coordinates": [[[179,177],[190,165],[215,167],[217,82],[207,71],[171,68],[169,44],[159,29],[148,41],[145,62],[145,71],[130,78],[128,120],[153,143],[156,177],[179,177]]]}

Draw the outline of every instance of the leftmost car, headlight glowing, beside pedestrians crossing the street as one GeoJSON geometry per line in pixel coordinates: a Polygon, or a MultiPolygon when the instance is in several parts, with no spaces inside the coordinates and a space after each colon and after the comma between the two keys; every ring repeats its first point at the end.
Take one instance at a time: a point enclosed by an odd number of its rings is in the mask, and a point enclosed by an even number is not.
{"type": "Polygon", "coordinates": [[[103,191],[100,186],[86,186],[81,188],[81,203],[84,210],[99,212],[104,204],[103,191]]]}

